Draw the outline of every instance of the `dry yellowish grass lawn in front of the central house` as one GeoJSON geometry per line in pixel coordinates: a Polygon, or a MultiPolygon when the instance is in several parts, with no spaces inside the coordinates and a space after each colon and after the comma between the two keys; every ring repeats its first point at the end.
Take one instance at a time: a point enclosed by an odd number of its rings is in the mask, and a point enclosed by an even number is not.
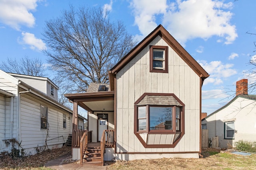
{"type": "Polygon", "coordinates": [[[209,149],[203,152],[207,156],[200,159],[162,158],[154,160],[116,161],[108,166],[108,170],[256,170],[256,154],[239,156],[220,153],[220,150],[209,149]],[[212,153],[212,155],[210,155],[212,153]],[[214,154],[213,154],[214,153],[214,154]]]}

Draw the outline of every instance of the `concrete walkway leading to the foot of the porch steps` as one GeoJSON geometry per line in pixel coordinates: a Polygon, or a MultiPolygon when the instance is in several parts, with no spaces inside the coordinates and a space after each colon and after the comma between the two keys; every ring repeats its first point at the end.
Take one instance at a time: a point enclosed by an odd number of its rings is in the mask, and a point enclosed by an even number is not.
{"type": "Polygon", "coordinates": [[[66,162],[70,159],[71,152],[64,154],[63,156],[50,160],[44,166],[56,170],[106,170],[107,166],[90,166],[87,164],[77,164],[66,162]]]}

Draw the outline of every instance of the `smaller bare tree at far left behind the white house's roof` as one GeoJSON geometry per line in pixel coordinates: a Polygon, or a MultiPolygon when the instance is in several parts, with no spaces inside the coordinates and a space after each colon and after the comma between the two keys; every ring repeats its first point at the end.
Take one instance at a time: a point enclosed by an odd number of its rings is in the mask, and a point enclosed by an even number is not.
{"type": "Polygon", "coordinates": [[[29,76],[47,76],[42,61],[38,58],[29,58],[25,56],[20,60],[10,59],[0,64],[0,69],[5,72],[11,72],[16,74],[25,74],[29,76]]]}

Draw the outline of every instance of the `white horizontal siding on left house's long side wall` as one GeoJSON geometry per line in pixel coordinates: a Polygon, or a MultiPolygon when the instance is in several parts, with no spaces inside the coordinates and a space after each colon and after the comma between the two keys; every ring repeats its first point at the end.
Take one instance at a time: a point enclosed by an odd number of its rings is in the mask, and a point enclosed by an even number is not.
{"type": "MultiPolygon", "coordinates": [[[[27,94],[20,95],[20,135],[22,147],[26,154],[36,154],[36,148],[42,150],[47,145],[49,149],[62,147],[66,143],[70,134],[70,121],[66,121],[66,128],[63,128],[63,114],[66,114],[66,120],[69,118],[69,112],[54,107],[54,105],[42,102],[27,94]],[[40,106],[48,107],[49,132],[47,129],[41,129],[40,106]],[[50,140],[51,139],[51,140],[50,140]]],[[[70,117],[72,119],[72,117],[70,117]]]]}

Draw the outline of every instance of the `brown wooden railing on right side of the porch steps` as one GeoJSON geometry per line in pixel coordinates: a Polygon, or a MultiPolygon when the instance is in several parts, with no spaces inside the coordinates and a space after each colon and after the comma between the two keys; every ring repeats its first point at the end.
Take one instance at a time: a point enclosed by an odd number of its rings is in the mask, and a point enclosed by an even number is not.
{"type": "Polygon", "coordinates": [[[114,130],[104,130],[100,139],[101,166],[104,166],[104,152],[106,147],[114,147],[114,130]]]}

